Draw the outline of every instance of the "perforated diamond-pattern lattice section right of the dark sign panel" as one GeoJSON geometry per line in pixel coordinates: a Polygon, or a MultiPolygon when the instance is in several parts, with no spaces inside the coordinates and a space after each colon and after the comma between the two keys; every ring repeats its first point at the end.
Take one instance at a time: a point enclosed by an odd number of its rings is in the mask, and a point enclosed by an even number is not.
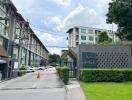
{"type": "Polygon", "coordinates": [[[112,68],[112,67],[128,67],[128,54],[120,52],[97,52],[97,67],[112,68]]]}

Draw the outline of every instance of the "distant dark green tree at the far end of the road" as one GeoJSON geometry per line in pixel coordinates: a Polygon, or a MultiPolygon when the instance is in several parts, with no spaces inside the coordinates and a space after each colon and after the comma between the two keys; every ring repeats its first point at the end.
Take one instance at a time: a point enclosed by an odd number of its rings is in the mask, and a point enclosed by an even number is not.
{"type": "Polygon", "coordinates": [[[50,54],[49,55],[49,63],[56,65],[60,63],[60,56],[57,54],[50,54]]]}

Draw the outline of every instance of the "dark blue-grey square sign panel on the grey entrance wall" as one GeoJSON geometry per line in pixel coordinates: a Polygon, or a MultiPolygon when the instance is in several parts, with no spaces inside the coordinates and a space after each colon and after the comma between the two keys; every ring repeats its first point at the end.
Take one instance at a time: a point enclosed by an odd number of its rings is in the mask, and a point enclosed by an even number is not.
{"type": "Polygon", "coordinates": [[[82,63],[83,68],[96,68],[97,67],[96,53],[82,52],[82,63]]]}

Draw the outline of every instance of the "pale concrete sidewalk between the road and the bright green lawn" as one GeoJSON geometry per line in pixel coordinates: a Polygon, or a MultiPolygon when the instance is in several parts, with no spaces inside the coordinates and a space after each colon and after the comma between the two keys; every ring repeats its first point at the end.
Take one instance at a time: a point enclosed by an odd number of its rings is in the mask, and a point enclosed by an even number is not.
{"type": "Polygon", "coordinates": [[[70,84],[66,85],[67,100],[86,100],[84,93],[77,80],[70,80],[70,84]]]}

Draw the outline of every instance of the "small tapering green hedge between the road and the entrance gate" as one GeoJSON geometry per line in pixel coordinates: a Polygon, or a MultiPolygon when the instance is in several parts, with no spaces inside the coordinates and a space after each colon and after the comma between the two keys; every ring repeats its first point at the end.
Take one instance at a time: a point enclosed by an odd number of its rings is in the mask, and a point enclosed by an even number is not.
{"type": "Polygon", "coordinates": [[[69,68],[67,67],[57,67],[56,68],[60,79],[64,82],[65,85],[69,82],[69,68]]]}

